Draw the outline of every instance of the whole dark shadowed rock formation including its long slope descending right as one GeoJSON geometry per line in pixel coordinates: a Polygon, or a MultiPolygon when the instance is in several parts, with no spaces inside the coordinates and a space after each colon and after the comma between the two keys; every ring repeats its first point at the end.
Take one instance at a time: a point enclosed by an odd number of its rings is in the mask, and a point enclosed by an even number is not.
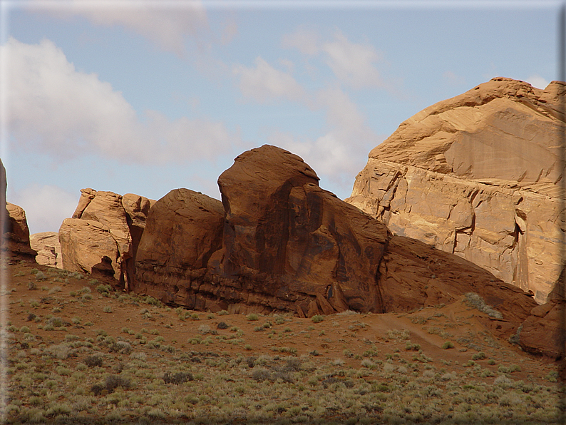
{"type": "Polygon", "coordinates": [[[150,209],[131,289],[215,312],[300,316],[408,311],[477,292],[515,332],[536,307],[467,260],[392,236],[386,225],[319,188],[297,155],[264,145],[218,179],[222,203],[172,190],[150,209]]]}

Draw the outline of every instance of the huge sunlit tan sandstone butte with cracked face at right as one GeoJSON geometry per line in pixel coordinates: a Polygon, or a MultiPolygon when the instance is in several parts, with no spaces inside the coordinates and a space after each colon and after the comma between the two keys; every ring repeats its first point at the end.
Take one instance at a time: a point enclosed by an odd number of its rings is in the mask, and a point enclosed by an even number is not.
{"type": "Polygon", "coordinates": [[[371,150],[346,202],[545,302],[563,249],[565,93],[493,78],[438,102],[371,150]]]}

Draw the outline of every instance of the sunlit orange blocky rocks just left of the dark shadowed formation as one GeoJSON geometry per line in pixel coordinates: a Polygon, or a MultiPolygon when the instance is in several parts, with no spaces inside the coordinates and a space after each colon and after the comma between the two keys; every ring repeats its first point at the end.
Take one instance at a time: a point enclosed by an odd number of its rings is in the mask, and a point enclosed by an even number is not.
{"type": "Polygon", "coordinates": [[[143,196],[81,190],[73,217],[59,229],[63,269],[111,275],[128,290],[149,209],[143,196]]]}

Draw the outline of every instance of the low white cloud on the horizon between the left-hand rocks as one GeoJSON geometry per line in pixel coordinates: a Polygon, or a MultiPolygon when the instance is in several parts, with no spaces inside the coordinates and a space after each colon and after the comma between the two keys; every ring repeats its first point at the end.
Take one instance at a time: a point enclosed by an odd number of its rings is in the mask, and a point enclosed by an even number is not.
{"type": "Polygon", "coordinates": [[[57,186],[30,185],[15,194],[8,202],[26,211],[30,234],[58,232],[66,217],[71,217],[78,204],[79,194],[66,192],[57,186]]]}

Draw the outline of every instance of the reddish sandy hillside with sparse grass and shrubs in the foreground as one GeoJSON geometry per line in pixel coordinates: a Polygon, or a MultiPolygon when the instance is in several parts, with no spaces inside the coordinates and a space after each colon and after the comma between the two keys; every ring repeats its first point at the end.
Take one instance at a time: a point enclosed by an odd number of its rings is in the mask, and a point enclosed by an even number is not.
{"type": "Polygon", "coordinates": [[[13,280],[2,295],[8,424],[557,419],[552,365],[494,339],[470,314],[483,313],[462,302],[321,319],[212,314],[35,267],[8,266],[13,280]],[[44,289],[30,290],[40,273],[44,289]]]}

